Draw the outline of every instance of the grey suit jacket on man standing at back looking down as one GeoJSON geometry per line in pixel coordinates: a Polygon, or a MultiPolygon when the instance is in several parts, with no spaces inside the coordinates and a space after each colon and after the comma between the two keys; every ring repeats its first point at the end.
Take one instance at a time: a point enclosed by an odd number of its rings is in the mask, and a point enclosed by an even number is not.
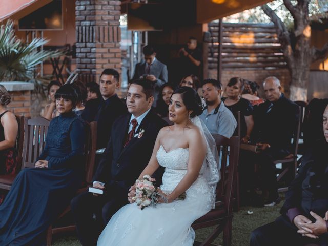
{"type": "MultiPolygon", "coordinates": [[[[147,74],[146,72],[146,61],[142,61],[141,63],[137,63],[135,65],[133,79],[138,79],[140,76],[147,74]]],[[[154,63],[150,67],[149,74],[154,75],[157,80],[154,82],[155,85],[155,100],[153,106],[156,107],[156,101],[158,98],[159,88],[167,83],[168,81],[168,69],[167,66],[161,63],[158,59],[155,59],[154,63]]]]}

